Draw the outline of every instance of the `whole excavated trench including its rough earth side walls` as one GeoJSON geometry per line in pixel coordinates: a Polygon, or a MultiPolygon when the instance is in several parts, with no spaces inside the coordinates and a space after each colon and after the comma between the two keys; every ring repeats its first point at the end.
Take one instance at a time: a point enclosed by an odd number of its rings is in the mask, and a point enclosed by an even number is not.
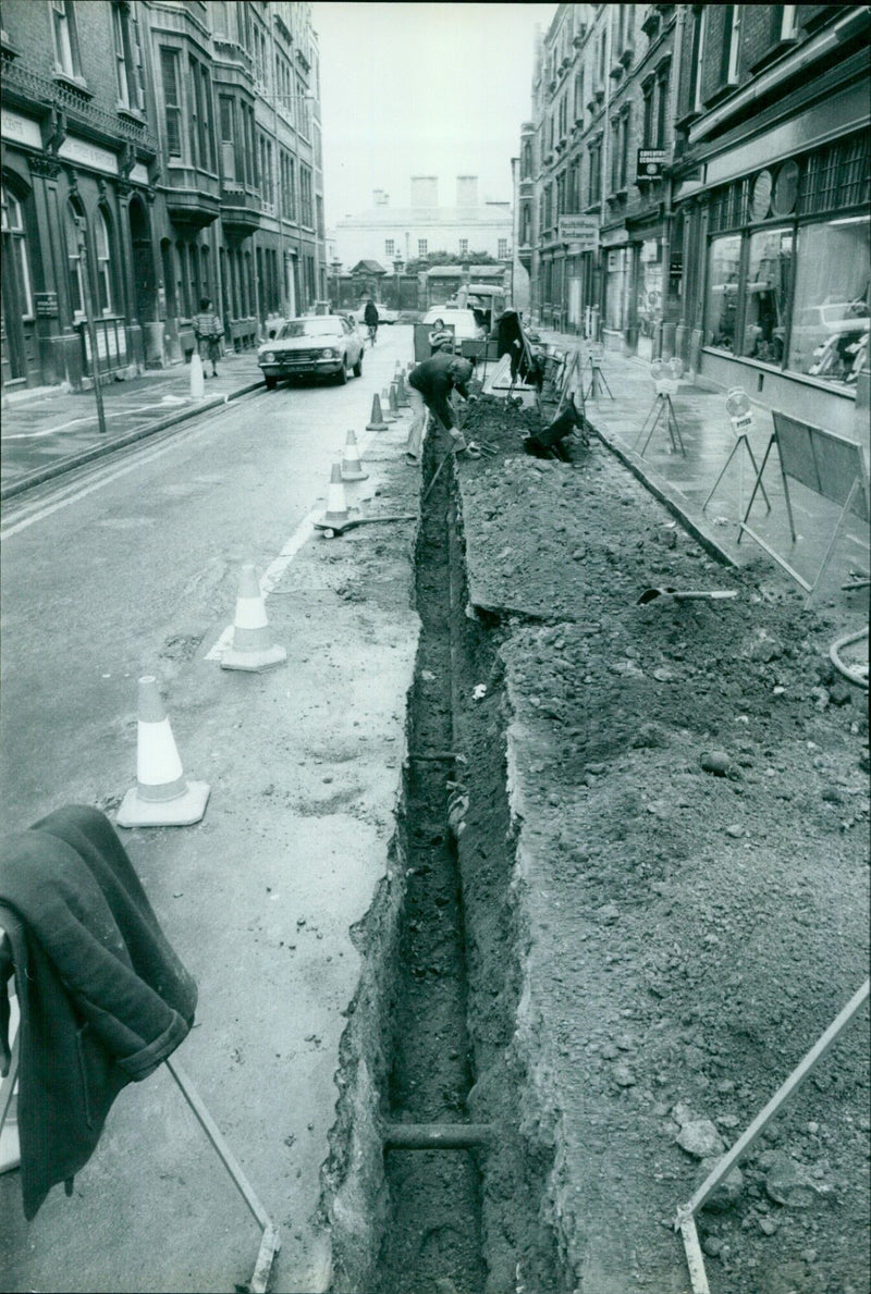
{"type": "MultiPolygon", "coordinates": [[[[430,441],[424,496],[441,454],[430,441]]],[[[418,533],[421,638],[391,873],[355,932],[364,969],[322,1197],[336,1291],[558,1286],[555,1241],[540,1223],[550,1163],[518,1131],[523,932],[498,630],[467,612],[449,467],[418,533]]]]}

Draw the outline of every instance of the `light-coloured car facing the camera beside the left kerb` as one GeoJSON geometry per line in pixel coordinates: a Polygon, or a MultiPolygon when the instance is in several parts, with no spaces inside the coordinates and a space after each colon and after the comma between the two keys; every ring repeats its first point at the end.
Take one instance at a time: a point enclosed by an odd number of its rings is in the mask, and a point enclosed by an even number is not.
{"type": "Polygon", "coordinates": [[[347,317],[305,314],[287,320],[277,335],[258,351],[258,364],[269,391],[281,378],[333,378],[348,380],[362,373],[362,338],[347,317]]]}

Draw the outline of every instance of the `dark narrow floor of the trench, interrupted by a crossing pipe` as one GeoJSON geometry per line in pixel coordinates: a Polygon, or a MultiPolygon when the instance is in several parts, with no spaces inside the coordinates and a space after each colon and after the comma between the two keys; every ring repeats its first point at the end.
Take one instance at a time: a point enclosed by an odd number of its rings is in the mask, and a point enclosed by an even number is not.
{"type": "MultiPolygon", "coordinates": [[[[427,444],[424,480],[440,461],[427,444]]],[[[409,721],[404,833],[406,893],[393,986],[387,1118],[469,1122],[474,1083],[457,841],[448,819],[454,765],[450,651],[449,477],[426,501],[417,549],[421,639],[409,721]],[[427,758],[421,758],[426,756],[427,758]]],[[[377,1288],[382,1294],[480,1294],[478,1152],[387,1150],[390,1193],[377,1288]]]]}

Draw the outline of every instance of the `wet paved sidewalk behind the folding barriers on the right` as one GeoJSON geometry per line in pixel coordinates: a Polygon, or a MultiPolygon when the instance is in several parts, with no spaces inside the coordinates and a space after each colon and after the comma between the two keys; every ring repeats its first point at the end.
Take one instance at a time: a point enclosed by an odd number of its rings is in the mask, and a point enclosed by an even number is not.
{"type": "MultiPolygon", "coordinates": [[[[567,348],[581,344],[581,355],[585,358],[584,387],[589,391],[589,347],[584,345],[580,338],[544,329],[540,333],[542,342],[567,348]]],[[[630,470],[643,474],[648,485],[667,502],[679,509],[703,542],[716,545],[739,565],[762,559],[770,562],[774,568],[773,559],[753,540],[743,536],[739,542],[738,523],[749,502],[755,479],[749,454],[744,446],[733,455],[729,468],[705,506],[717,477],[735,448],[735,436],[726,410],[726,393],[705,391],[689,382],[681,382],[672,400],[679,439],[686,450],[682,454],[679,446],[677,449],[672,446],[664,421],[659,422],[648,437],[654,421],[651,415],[642,435],[645,421],[656,399],[650,364],[611,351],[604,352],[601,362],[611,395],[603,386],[595,399],[588,396],[586,415],[615,453],[630,470]]],[[[771,411],[752,397],[751,409],[753,426],[748,440],[756,462],[761,466],[773,432],[771,411]]],[[[791,480],[789,498],[797,532],[793,543],[777,450],[769,455],[762,484],[771,511],[770,514],[766,511],[765,501],[757,492],[748,524],[805,580],[813,581],[837,524],[840,507],[791,480]]],[[[866,573],[868,571],[868,527],[850,515],[814,600],[831,603],[839,611],[855,611],[865,616],[867,590],[857,594],[841,589],[853,569],[866,573]]],[[[793,586],[801,591],[797,582],[793,586]]]]}

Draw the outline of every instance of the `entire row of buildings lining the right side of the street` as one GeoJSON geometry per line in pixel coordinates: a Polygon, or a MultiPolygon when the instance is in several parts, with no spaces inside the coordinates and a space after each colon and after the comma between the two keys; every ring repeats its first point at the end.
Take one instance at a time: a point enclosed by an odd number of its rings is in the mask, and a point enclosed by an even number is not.
{"type": "Polygon", "coordinates": [[[857,5],[560,5],[515,168],[541,322],[861,426],[868,26],[857,5]]]}

